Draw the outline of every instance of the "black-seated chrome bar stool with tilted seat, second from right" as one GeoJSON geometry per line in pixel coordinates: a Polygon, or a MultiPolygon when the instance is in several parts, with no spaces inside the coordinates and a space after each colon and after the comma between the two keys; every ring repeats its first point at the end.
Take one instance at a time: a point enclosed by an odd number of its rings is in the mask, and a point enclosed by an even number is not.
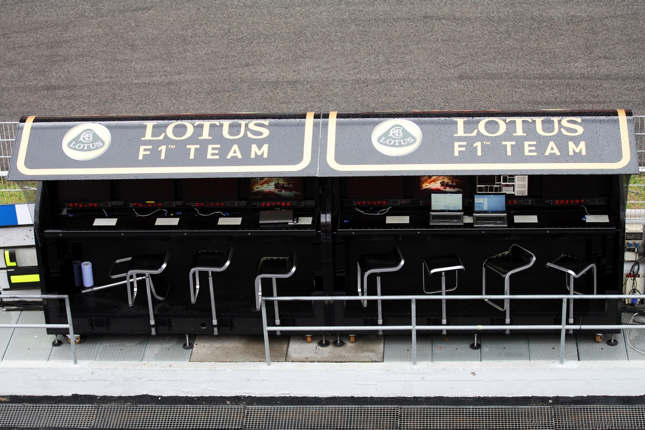
{"type": "MultiPolygon", "coordinates": [[[[482,266],[482,294],[486,295],[486,268],[504,278],[504,294],[508,295],[510,294],[511,274],[526,270],[533,263],[535,263],[535,254],[520,245],[512,245],[508,251],[489,257],[482,266]]],[[[506,323],[511,323],[510,300],[504,299],[504,307],[500,307],[490,300],[484,300],[500,311],[506,311],[506,323]]],[[[506,333],[510,332],[506,330],[506,333]]]]}

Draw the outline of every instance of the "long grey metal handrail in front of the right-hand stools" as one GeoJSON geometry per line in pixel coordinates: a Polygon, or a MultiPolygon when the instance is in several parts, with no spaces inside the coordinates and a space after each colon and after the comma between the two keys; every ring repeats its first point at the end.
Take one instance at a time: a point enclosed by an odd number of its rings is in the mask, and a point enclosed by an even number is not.
{"type": "Polygon", "coordinates": [[[270,331],[381,331],[381,330],[410,330],[412,332],[412,365],[417,364],[417,330],[476,330],[476,331],[497,331],[504,329],[513,330],[560,330],[560,364],[564,364],[564,340],[567,330],[622,330],[622,329],[645,329],[643,325],[630,324],[567,324],[566,323],[566,303],[567,300],[603,300],[603,299],[645,299],[645,294],[594,294],[578,295],[573,294],[523,294],[521,296],[513,294],[481,294],[481,295],[455,295],[455,296],[281,296],[281,297],[263,297],[261,302],[262,311],[262,328],[264,334],[264,355],[266,356],[266,365],[271,365],[271,355],[269,353],[269,332],[270,331]],[[562,300],[562,323],[556,324],[522,324],[522,325],[417,325],[417,300],[562,300]],[[333,302],[339,300],[342,302],[356,300],[410,300],[411,304],[411,324],[410,325],[317,325],[306,327],[269,327],[266,319],[266,302],[333,302]]]}

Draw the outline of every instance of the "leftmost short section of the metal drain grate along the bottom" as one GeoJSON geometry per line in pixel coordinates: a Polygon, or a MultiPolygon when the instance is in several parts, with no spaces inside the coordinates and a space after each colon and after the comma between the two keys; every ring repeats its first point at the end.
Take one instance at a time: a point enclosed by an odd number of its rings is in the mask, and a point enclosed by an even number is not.
{"type": "Polygon", "coordinates": [[[0,427],[92,427],[95,405],[0,405],[0,427]]]}

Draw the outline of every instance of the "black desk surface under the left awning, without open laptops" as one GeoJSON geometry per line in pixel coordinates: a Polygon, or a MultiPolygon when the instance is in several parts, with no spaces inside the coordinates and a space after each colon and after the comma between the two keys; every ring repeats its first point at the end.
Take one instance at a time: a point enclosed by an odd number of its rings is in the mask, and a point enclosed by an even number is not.
{"type": "MultiPolygon", "coordinates": [[[[137,210],[145,213],[144,210],[137,210]]],[[[317,208],[294,210],[299,218],[310,217],[308,224],[260,224],[259,212],[236,214],[228,216],[213,214],[199,216],[186,211],[179,216],[164,216],[157,212],[150,216],[134,216],[133,214],[85,213],[70,215],[55,215],[45,227],[46,237],[85,237],[85,236],[315,236],[319,225],[317,208]],[[117,218],[116,225],[94,225],[95,220],[117,218]],[[177,225],[155,225],[157,218],[162,220],[177,219],[177,225]],[[220,219],[241,218],[239,225],[221,225],[220,219]]]]}

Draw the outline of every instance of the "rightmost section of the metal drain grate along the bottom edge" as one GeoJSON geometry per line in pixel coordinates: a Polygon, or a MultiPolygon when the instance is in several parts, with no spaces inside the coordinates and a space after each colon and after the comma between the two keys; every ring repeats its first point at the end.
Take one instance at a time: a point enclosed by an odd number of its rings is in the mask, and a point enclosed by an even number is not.
{"type": "Polygon", "coordinates": [[[642,430],[645,406],[554,406],[557,430],[642,430]]]}

